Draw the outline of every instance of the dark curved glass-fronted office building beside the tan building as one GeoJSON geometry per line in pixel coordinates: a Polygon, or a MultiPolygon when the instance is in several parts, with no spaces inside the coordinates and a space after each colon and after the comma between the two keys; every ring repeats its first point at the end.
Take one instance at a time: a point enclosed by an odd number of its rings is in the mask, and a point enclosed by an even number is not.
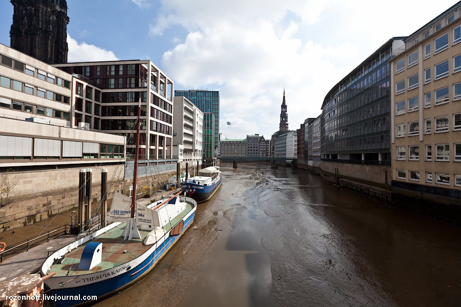
{"type": "Polygon", "coordinates": [[[388,60],[403,38],[389,39],[325,96],[322,161],[390,165],[388,60]]]}

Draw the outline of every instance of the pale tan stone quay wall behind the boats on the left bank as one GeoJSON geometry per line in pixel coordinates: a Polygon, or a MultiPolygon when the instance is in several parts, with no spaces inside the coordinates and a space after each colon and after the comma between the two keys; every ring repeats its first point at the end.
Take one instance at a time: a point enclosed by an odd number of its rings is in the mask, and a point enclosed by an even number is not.
{"type": "MultiPolygon", "coordinates": [[[[176,164],[168,164],[161,172],[138,177],[138,197],[142,189],[158,191],[161,185],[176,174],[176,164]],[[172,171],[173,169],[173,171],[172,171]]],[[[92,168],[92,212],[101,200],[101,169],[108,169],[108,201],[112,200],[114,191],[129,194],[133,185],[131,178],[124,178],[125,166],[115,165],[92,168]]],[[[81,167],[66,169],[48,169],[33,171],[14,171],[8,177],[15,180],[16,200],[0,208],[0,233],[14,228],[31,225],[46,220],[59,212],[78,207],[78,178],[81,167]]],[[[141,167],[139,167],[139,170],[141,167]]],[[[184,172],[185,163],[181,163],[184,172]]],[[[189,166],[191,171],[191,166],[189,166]]],[[[193,171],[193,170],[192,170],[193,171]]],[[[110,204],[110,202],[109,202],[110,204]]]]}

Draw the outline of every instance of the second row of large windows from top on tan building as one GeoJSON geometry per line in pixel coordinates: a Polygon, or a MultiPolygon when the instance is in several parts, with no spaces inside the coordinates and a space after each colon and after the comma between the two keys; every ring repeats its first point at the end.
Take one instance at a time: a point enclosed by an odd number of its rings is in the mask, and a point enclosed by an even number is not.
{"type": "MultiPolygon", "coordinates": [[[[441,63],[434,65],[435,75],[434,80],[438,80],[444,77],[447,77],[449,73],[449,61],[445,60],[441,63]]],[[[453,74],[461,71],[461,54],[458,54],[452,59],[453,74]]],[[[428,68],[424,71],[424,83],[427,84],[431,82],[431,68],[428,68]]],[[[408,80],[408,91],[416,89],[419,86],[418,74],[414,74],[407,78],[408,80]]],[[[397,81],[395,83],[395,95],[405,93],[405,79],[397,81]]]]}

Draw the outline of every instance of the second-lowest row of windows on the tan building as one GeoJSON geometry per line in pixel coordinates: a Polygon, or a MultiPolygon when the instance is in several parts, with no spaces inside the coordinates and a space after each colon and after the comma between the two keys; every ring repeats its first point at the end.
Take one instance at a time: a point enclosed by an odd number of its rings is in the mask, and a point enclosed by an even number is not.
{"type": "MultiPolygon", "coordinates": [[[[406,146],[396,146],[396,160],[406,160],[406,146]]],[[[420,161],[420,146],[408,146],[408,160],[420,161]]],[[[425,161],[432,161],[432,145],[426,145],[425,161]]],[[[450,144],[435,144],[435,160],[450,161],[450,144]]],[[[461,144],[453,144],[453,161],[461,162],[461,144]]]]}

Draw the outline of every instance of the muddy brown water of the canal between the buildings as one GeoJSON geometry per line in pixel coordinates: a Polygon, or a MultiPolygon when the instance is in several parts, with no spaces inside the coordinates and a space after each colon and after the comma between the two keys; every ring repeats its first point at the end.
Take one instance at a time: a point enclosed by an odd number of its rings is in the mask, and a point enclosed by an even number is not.
{"type": "Polygon", "coordinates": [[[114,306],[460,306],[461,228],[267,164],[221,167],[195,223],[114,306]]]}

